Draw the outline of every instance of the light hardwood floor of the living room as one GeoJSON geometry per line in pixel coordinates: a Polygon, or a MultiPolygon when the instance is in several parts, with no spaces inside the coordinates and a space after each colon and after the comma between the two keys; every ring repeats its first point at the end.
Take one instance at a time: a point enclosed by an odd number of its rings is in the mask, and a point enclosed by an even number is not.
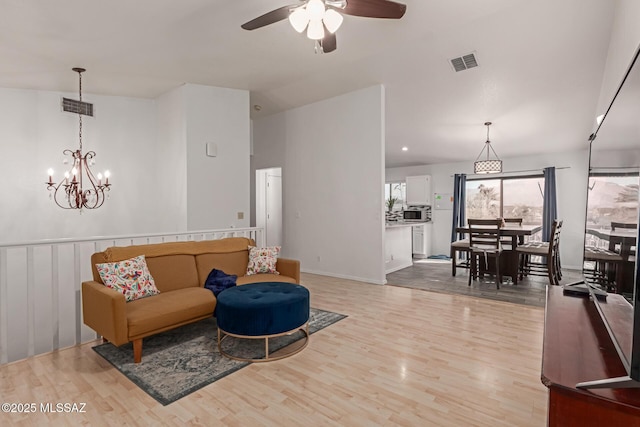
{"type": "MultiPolygon", "coordinates": [[[[0,425],[543,426],[544,310],[303,274],[311,305],[349,317],[288,359],[247,366],[162,406],[88,343],[0,367],[0,425]]],[[[144,355],[143,355],[144,361],[144,355]]]]}

